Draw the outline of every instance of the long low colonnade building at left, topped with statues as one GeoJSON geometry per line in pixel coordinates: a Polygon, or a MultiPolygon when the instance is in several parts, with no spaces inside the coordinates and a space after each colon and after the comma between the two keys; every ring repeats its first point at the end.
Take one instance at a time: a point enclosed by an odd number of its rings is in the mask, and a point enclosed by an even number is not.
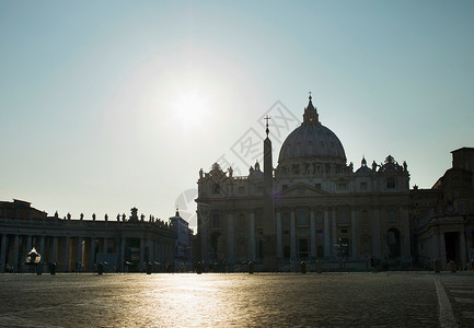
{"type": "Polygon", "coordinates": [[[21,200],[0,202],[0,271],[27,272],[25,258],[35,247],[43,263],[57,263],[60,272],[92,272],[99,262],[107,271],[140,271],[151,262],[154,270],[174,261],[174,230],[137,209],[116,220],[48,216],[21,200]]]}

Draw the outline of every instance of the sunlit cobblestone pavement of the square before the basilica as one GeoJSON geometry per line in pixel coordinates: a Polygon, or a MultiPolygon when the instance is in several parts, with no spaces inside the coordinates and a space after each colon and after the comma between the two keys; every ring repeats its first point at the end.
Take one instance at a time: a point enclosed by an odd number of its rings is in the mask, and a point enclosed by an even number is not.
{"type": "Polygon", "coordinates": [[[473,282],[425,272],[0,274],[0,326],[449,327],[441,288],[451,316],[472,327],[473,282]]]}

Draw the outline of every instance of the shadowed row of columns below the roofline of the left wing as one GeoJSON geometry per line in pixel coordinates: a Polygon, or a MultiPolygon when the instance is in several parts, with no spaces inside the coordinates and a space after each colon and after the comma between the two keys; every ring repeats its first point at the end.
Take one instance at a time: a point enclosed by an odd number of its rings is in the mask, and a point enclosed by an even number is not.
{"type": "Polygon", "coordinates": [[[139,267],[144,262],[172,263],[174,260],[174,238],[128,235],[38,235],[0,234],[0,272],[27,272],[25,258],[35,247],[43,263],[57,265],[61,272],[92,272],[99,255],[115,270],[124,271],[127,258],[126,248],[139,245],[139,267]]]}

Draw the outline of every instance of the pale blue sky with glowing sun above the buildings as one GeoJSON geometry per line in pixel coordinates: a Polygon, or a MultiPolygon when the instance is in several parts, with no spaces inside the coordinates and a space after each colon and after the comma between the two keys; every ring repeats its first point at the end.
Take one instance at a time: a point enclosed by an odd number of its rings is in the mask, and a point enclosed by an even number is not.
{"type": "Polygon", "coordinates": [[[274,165],[309,92],[347,163],[430,188],[474,147],[474,1],[0,0],[0,200],[196,226],[197,179],[274,165]],[[262,149],[258,151],[258,147],[262,149]]]}

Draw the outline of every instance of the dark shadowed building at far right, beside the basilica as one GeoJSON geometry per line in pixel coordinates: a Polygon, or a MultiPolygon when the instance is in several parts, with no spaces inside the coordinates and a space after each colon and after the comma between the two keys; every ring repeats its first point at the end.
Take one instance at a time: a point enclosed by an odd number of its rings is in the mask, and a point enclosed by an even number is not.
{"type": "Polygon", "coordinates": [[[460,269],[474,259],[474,149],[451,152],[452,167],[431,189],[412,190],[414,253],[425,267],[453,260],[460,269]]]}

